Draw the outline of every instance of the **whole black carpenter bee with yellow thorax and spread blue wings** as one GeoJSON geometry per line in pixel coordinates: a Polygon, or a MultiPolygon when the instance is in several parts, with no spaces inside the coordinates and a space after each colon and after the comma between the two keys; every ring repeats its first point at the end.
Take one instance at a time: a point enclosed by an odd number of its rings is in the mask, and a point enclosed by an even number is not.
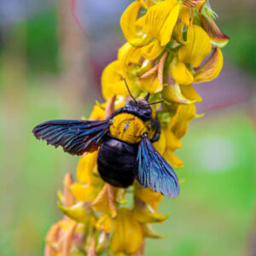
{"type": "Polygon", "coordinates": [[[135,99],[116,110],[106,120],[50,120],[33,129],[38,139],[55,148],[61,146],[69,154],[94,152],[102,179],[120,188],[130,186],[134,179],[144,188],[152,188],[168,197],[179,194],[176,173],[154,148],[160,138],[160,122],[153,118],[148,102],[135,99]]]}

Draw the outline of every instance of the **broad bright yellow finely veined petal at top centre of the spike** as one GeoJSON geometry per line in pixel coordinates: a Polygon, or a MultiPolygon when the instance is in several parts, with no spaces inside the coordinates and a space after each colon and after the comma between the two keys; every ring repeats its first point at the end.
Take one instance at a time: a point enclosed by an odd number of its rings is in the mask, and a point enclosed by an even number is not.
{"type": "Polygon", "coordinates": [[[160,40],[160,45],[164,46],[171,40],[178,10],[179,3],[176,0],[157,3],[148,9],[147,14],[143,17],[143,22],[140,20],[137,25],[143,26],[144,32],[160,40]]]}

